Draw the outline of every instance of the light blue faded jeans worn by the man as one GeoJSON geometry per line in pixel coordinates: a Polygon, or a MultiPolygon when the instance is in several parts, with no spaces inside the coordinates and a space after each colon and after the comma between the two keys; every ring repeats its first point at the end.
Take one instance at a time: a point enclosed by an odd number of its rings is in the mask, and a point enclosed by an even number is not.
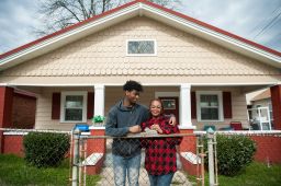
{"type": "Polygon", "coordinates": [[[112,154],[115,186],[125,186],[126,175],[130,186],[138,186],[140,158],[140,153],[132,158],[112,154]]]}

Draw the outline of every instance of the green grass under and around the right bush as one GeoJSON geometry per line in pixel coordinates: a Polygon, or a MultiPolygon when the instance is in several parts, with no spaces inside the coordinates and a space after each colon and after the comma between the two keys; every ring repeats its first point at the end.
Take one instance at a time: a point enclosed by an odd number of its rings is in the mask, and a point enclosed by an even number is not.
{"type": "MultiPolygon", "coordinates": [[[[196,183],[194,176],[189,176],[189,181],[196,183]]],[[[209,175],[205,175],[205,185],[209,185],[209,175]]],[[[268,167],[263,163],[254,162],[241,171],[238,175],[228,177],[218,175],[220,186],[280,186],[281,165],[268,167]]]]}

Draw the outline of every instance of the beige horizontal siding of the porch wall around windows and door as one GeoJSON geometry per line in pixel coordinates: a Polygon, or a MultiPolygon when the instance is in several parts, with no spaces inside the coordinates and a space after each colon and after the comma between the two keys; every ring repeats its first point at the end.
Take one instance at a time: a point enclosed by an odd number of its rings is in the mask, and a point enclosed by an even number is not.
{"type": "MultiPolygon", "coordinates": [[[[148,105],[149,101],[155,97],[155,92],[179,92],[177,86],[144,86],[145,92],[140,94],[139,103],[148,105]]],[[[43,88],[41,94],[37,96],[37,109],[36,109],[36,129],[60,129],[70,130],[75,124],[72,123],[59,123],[58,119],[52,119],[52,94],[53,92],[61,91],[89,91],[91,88],[43,88]]],[[[225,119],[223,123],[198,123],[196,119],[192,120],[192,124],[198,129],[202,129],[203,125],[216,124],[217,128],[229,126],[232,120],[241,121],[245,127],[247,126],[247,106],[245,101],[245,94],[240,92],[239,88],[192,88],[192,91],[227,91],[232,92],[233,100],[233,119],[225,119]]],[[[105,116],[112,105],[114,105],[124,95],[122,86],[105,86],[105,116]]],[[[91,124],[91,120],[88,120],[91,124]]]]}

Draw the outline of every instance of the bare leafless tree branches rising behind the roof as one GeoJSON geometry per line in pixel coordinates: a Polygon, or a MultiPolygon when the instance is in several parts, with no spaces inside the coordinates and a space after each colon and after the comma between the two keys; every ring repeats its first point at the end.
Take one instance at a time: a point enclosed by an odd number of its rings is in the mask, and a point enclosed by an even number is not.
{"type": "MultiPolygon", "coordinates": [[[[132,0],[44,0],[38,12],[45,23],[43,28],[36,28],[37,35],[46,35],[82,22],[89,18],[114,9],[132,0]]],[[[151,2],[173,9],[179,0],[150,0],[151,2]]]]}

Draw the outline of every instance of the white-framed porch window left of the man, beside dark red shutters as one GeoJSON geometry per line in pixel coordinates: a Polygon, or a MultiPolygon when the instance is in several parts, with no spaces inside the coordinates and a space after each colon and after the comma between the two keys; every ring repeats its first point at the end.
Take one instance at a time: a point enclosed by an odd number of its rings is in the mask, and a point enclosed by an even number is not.
{"type": "Polygon", "coordinates": [[[60,105],[61,123],[87,121],[87,92],[63,92],[60,105]]]}

